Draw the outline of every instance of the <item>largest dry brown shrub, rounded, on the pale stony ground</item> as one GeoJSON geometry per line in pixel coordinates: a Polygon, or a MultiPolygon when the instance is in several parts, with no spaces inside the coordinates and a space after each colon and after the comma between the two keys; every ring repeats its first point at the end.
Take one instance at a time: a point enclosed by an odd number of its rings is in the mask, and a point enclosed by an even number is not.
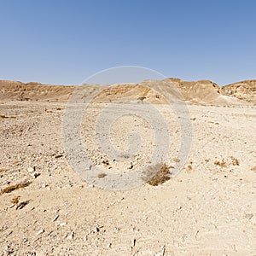
{"type": "Polygon", "coordinates": [[[166,164],[149,166],[148,169],[143,172],[142,178],[149,185],[158,186],[171,178],[170,168],[172,168],[172,166],[166,166],[166,164]]]}

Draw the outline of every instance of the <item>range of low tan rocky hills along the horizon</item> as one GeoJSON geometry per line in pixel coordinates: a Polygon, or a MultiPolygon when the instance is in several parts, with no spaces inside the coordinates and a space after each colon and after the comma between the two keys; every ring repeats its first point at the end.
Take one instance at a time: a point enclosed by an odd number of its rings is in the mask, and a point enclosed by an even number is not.
{"type": "Polygon", "coordinates": [[[50,85],[0,80],[0,100],[67,102],[76,90],[76,99],[84,101],[96,95],[96,102],[183,102],[196,105],[255,104],[256,80],[223,87],[209,80],[145,80],[139,84],[50,85]],[[104,90],[102,90],[104,89],[104,90]]]}

